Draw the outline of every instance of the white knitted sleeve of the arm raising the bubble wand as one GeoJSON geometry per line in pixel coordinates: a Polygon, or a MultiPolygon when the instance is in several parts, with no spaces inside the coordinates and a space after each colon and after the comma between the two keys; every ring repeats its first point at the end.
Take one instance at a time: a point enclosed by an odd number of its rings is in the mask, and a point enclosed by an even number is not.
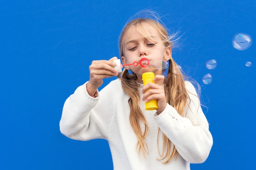
{"type": "Polygon", "coordinates": [[[86,83],[79,86],[65,101],[60,131],[76,140],[107,139],[112,107],[109,107],[110,103],[104,105],[105,102],[100,102],[101,93],[96,98],[91,97],[86,90],[86,83]]]}

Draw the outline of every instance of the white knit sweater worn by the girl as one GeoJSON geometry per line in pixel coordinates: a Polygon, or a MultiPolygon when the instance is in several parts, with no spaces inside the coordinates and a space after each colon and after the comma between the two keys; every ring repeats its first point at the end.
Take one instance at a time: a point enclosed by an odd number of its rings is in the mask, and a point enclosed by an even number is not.
{"type": "MultiPolygon", "coordinates": [[[[143,84],[139,88],[140,94],[142,87],[143,84]]],[[[86,83],[78,87],[65,101],[60,121],[61,133],[76,140],[108,140],[116,170],[189,170],[190,163],[202,163],[207,159],[213,139],[195,88],[186,82],[186,89],[191,98],[186,117],[181,117],[168,104],[157,116],[155,110],[146,111],[144,102],[140,101],[139,106],[150,131],[146,138],[149,149],[146,159],[137,153],[137,137],[129,121],[129,96],[124,93],[119,79],[104,87],[97,98],[88,95],[86,83]],[[158,127],[178,151],[177,158],[167,164],[157,160],[160,158],[157,148],[158,127]]],[[[142,99],[142,95],[140,98],[142,99]]],[[[185,112],[187,109],[188,107],[185,112]]],[[[141,129],[144,131],[144,124],[141,124],[141,129]]],[[[162,152],[161,135],[159,150],[162,152]]]]}

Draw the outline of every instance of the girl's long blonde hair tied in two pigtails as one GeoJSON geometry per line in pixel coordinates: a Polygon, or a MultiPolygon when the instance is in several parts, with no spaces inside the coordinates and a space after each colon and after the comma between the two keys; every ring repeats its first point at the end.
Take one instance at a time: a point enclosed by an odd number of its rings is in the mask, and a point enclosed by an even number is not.
{"type": "MultiPolygon", "coordinates": [[[[126,33],[130,31],[132,27],[139,31],[139,33],[144,35],[144,37],[146,37],[149,40],[161,41],[163,42],[165,47],[173,46],[173,43],[171,42],[173,36],[168,35],[166,28],[162,24],[160,24],[159,21],[150,18],[137,18],[126,24],[120,35],[119,48],[121,56],[125,56],[124,36],[126,35],[126,33]],[[154,37],[150,37],[150,35],[148,35],[146,31],[148,29],[150,29],[150,31],[153,31],[153,33],[156,33],[156,35],[159,35],[161,37],[161,40],[154,39],[154,37]]],[[[184,109],[189,98],[185,88],[184,77],[175,61],[173,61],[173,59],[170,59],[169,62],[170,64],[168,68],[168,74],[165,78],[164,83],[166,102],[173,106],[181,116],[184,116],[184,109]]],[[[124,69],[124,71],[121,74],[119,74],[118,77],[121,79],[121,85],[124,92],[130,97],[130,99],[128,100],[130,106],[130,124],[138,139],[137,151],[139,154],[142,152],[143,156],[145,157],[145,154],[148,154],[148,145],[146,143],[146,137],[149,133],[149,128],[146,122],[146,118],[144,117],[144,114],[139,108],[140,97],[138,88],[140,85],[136,81],[137,76],[136,74],[129,74],[128,70],[124,69]],[[140,121],[143,122],[145,125],[144,131],[141,130],[139,124],[140,121]]],[[[174,144],[172,144],[172,142],[170,141],[170,139],[168,139],[168,137],[166,137],[166,135],[162,133],[163,146],[161,153],[158,145],[159,133],[160,129],[158,128],[157,147],[160,158],[157,159],[166,159],[164,160],[163,163],[168,163],[171,159],[175,157],[175,155],[177,155],[177,150],[174,144]]]]}

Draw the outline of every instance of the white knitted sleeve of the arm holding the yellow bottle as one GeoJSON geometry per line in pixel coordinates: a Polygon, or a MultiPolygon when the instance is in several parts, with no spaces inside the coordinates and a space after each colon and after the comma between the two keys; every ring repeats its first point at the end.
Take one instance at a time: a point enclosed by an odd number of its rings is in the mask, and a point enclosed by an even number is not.
{"type": "Polygon", "coordinates": [[[173,142],[178,153],[190,163],[204,162],[213,145],[209,124],[200,106],[200,101],[193,85],[186,82],[190,103],[185,108],[185,116],[170,105],[155,116],[155,121],[163,133],[173,142]]]}

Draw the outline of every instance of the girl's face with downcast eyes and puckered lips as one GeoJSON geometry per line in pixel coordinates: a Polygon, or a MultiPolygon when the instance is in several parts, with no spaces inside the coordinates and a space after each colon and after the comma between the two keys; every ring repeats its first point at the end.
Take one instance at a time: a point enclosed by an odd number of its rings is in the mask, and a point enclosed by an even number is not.
{"type": "MultiPolygon", "coordinates": [[[[149,28],[146,28],[145,31],[147,31],[152,39],[161,40],[160,36],[155,35],[149,28]]],[[[154,32],[157,33],[156,30],[154,32]]],[[[164,44],[159,41],[154,42],[148,40],[132,26],[130,31],[127,31],[124,35],[124,56],[121,57],[122,62],[124,64],[130,64],[134,61],[139,62],[141,58],[147,58],[153,63],[153,61],[162,61],[165,57],[167,60],[170,59],[171,48],[164,47],[164,44]]],[[[129,69],[137,75],[137,81],[139,83],[143,83],[142,74],[144,72],[154,72],[155,75],[162,75],[162,70],[156,70],[150,67],[143,68],[140,65],[129,65],[129,69]]]]}

